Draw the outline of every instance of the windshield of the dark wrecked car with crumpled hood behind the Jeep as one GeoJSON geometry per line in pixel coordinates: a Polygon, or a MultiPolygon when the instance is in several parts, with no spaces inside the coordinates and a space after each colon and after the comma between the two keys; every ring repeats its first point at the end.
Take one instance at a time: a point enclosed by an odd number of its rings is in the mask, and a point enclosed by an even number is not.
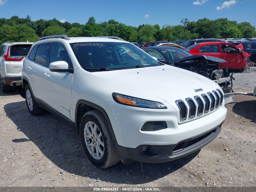
{"type": "Polygon", "coordinates": [[[189,52],[186,52],[183,49],[177,47],[170,47],[168,49],[163,49],[160,51],[165,56],[165,58],[168,59],[170,62],[175,62],[179,59],[191,56],[189,52]]]}

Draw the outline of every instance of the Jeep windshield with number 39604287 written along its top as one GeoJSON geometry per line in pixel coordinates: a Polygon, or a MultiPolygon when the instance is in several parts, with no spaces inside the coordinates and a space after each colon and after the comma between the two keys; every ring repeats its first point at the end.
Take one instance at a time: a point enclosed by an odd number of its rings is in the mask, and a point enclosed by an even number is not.
{"type": "Polygon", "coordinates": [[[80,66],[85,70],[117,70],[161,65],[130,43],[79,42],[70,43],[70,46],[80,66]]]}

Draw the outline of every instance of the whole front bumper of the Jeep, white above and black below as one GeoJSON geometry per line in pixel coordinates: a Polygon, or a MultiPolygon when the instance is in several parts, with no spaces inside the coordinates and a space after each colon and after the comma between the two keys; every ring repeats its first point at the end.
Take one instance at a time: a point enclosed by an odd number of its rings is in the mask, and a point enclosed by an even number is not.
{"type": "Polygon", "coordinates": [[[211,142],[221,131],[227,109],[224,103],[201,118],[179,124],[176,110],[145,109],[112,101],[106,109],[116,137],[116,148],[124,162],[157,163],[174,160],[211,142]],[[166,129],[141,131],[148,121],[165,121],[166,129]]]}

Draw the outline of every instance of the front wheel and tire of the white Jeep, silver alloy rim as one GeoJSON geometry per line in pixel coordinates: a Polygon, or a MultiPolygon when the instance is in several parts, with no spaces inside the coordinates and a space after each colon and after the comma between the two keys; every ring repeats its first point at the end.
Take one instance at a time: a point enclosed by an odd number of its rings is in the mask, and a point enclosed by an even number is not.
{"type": "Polygon", "coordinates": [[[111,167],[120,161],[108,123],[98,110],[84,114],[80,123],[80,136],[88,159],[97,167],[111,167]]]}

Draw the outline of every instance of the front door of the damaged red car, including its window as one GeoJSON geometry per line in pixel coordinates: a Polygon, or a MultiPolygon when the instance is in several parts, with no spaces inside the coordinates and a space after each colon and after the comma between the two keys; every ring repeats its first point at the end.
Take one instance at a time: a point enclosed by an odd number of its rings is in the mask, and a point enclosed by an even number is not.
{"type": "Polygon", "coordinates": [[[219,66],[228,69],[242,69],[245,66],[244,56],[239,53],[239,50],[233,45],[221,44],[221,59],[226,63],[220,63],[219,66]]]}

